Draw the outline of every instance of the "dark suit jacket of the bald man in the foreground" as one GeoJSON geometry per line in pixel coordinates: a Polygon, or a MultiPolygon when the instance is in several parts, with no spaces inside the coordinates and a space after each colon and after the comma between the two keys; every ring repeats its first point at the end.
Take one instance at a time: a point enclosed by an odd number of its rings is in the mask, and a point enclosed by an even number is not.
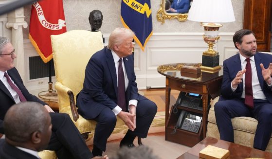
{"type": "Polygon", "coordinates": [[[38,159],[0,139],[0,159],[38,159]]]}

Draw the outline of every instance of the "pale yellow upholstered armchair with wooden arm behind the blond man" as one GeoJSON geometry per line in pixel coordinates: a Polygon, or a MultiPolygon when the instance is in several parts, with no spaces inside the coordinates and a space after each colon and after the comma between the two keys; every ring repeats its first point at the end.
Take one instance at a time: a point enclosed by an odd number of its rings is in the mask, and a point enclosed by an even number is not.
{"type": "Polygon", "coordinates": [[[96,122],[86,120],[77,113],[75,96],[83,88],[85,68],[93,53],[103,49],[101,32],[72,30],[61,35],[51,35],[58,94],[59,112],[73,119],[85,140],[94,130],[96,122]]]}

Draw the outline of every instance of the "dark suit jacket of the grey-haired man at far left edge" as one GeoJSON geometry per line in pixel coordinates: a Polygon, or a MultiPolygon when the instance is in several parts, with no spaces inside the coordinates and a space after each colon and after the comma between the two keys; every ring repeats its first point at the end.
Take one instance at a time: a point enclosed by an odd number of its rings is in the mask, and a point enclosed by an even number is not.
{"type": "MultiPolygon", "coordinates": [[[[8,70],[7,72],[9,76],[12,78],[12,80],[14,81],[14,83],[21,90],[21,92],[23,93],[27,101],[38,102],[38,103],[41,103],[42,105],[46,105],[46,103],[42,102],[36,96],[28,92],[28,90],[24,87],[23,81],[18,71],[16,70],[16,68],[8,70]]],[[[2,81],[0,81],[0,133],[1,134],[4,134],[4,131],[3,131],[4,116],[7,110],[14,104],[15,104],[15,101],[12,98],[9,90],[5,87],[2,81]]]]}

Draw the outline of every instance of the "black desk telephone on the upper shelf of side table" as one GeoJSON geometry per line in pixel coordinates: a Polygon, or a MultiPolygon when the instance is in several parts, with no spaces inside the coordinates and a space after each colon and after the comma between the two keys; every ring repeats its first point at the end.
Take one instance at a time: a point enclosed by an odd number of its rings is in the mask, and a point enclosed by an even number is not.
{"type": "Polygon", "coordinates": [[[197,110],[203,110],[202,95],[195,93],[185,93],[181,91],[176,105],[189,107],[197,110]]]}

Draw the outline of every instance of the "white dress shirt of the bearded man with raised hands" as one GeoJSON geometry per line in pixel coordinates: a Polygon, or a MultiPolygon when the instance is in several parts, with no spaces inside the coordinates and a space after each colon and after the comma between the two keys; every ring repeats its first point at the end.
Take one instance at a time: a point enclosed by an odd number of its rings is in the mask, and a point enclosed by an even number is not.
{"type": "MultiPolygon", "coordinates": [[[[246,65],[247,65],[246,57],[242,56],[241,53],[239,53],[239,55],[240,55],[242,70],[244,70],[244,69],[246,69],[246,65]]],[[[265,100],[266,96],[264,95],[262,88],[260,86],[259,80],[258,80],[254,56],[250,57],[250,64],[251,64],[251,71],[252,71],[253,99],[265,100]]],[[[258,67],[260,67],[260,66],[258,66],[258,67]]],[[[269,86],[272,86],[272,83],[269,86]]],[[[231,84],[231,87],[232,87],[232,84],[231,84]]],[[[235,91],[236,88],[232,87],[232,90],[235,91]]],[[[241,97],[245,98],[245,73],[243,74],[243,92],[242,92],[241,97]]]]}

